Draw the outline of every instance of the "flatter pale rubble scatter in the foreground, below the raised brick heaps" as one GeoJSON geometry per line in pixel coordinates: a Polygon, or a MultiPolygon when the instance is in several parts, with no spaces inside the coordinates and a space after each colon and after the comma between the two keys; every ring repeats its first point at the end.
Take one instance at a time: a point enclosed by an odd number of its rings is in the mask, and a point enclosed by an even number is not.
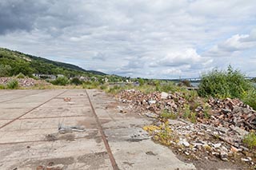
{"type": "MultiPolygon", "coordinates": [[[[239,132],[234,132],[228,128],[218,128],[202,123],[193,124],[184,120],[168,120],[170,128],[170,138],[165,144],[170,144],[176,148],[177,152],[182,152],[186,156],[199,159],[219,158],[221,160],[236,159],[254,164],[253,154],[242,145],[242,136],[239,132]]],[[[163,127],[164,123],[156,121],[156,127],[163,127]]],[[[153,139],[161,138],[161,129],[152,130],[150,134],[153,139]]]]}

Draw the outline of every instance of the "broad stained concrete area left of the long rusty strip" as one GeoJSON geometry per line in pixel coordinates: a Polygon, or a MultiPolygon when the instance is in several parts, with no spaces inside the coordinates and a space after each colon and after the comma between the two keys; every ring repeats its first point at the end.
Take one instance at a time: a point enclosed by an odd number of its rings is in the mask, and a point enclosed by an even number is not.
{"type": "MultiPolygon", "coordinates": [[[[21,93],[16,90],[6,93],[13,94],[10,98],[15,98],[16,92],[21,93]]],[[[22,91],[26,97],[0,103],[0,125],[41,105],[0,128],[0,169],[51,166],[61,166],[62,169],[112,169],[85,91],[40,92],[28,96],[30,90],[22,91]],[[56,97],[60,93],[63,94],[56,97]],[[66,102],[63,97],[71,97],[71,101],[66,102]],[[60,125],[62,128],[83,127],[84,130],[59,132],[60,125]]]]}

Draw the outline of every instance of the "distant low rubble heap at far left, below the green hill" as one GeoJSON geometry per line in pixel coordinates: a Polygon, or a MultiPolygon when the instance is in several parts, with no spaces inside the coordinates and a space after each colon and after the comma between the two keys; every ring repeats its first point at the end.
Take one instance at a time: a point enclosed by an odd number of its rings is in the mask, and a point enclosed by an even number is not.
{"type": "Polygon", "coordinates": [[[17,80],[21,87],[31,87],[34,85],[50,85],[50,83],[42,80],[34,80],[33,78],[15,78],[14,77],[0,77],[0,85],[6,85],[9,81],[17,80]]]}

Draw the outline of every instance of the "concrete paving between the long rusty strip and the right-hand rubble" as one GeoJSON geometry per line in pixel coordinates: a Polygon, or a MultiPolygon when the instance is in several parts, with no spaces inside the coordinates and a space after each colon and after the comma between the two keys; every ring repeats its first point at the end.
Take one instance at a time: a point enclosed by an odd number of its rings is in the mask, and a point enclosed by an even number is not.
{"type": "Polygon", "coordinates": [[[170,148],[155,144],[142,129],[151,123],[146,117],[132,113],[120,114],[113,105],[114,99],[106,94],[88,90],[98,118],[109,122],[102,124],[110,148],[120,169],[195,169],[193,164],[186,164],[171,152],[170,148]],[[110,109],[104,109],[110,108],[110,109]],[[105,114],[104,114],[105,113],[105,114]]]}

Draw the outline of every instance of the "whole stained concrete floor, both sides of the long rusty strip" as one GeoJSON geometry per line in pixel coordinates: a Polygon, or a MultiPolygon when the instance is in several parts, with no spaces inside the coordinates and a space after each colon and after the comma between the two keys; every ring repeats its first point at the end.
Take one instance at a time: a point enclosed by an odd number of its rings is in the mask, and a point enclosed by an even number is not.
{"type": "Polygon", "coordinates": [[[194,169],[150,140],[148,118],[87,93],[94,109],[82,89],[1,90],[0,169],[194,169]]]}

